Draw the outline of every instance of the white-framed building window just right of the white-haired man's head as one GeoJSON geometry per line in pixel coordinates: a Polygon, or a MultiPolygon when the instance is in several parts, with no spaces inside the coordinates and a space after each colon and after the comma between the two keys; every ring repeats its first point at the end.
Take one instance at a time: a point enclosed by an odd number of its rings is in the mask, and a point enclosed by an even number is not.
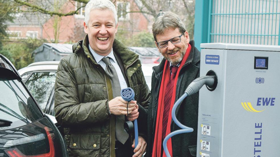
{"type": "Polygon", "coordinates": [[[117,2],[117,8],[118,8],[118,20],[129,20],[129,14],[130,11],[130,4],[129,2],[117,2]]]}

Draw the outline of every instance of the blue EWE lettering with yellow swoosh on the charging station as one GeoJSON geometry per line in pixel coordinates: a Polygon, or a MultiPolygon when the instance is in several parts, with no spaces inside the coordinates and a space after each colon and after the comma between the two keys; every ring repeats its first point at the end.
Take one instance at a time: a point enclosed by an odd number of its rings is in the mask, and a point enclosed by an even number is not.
{"type": "MultiPolygon", "coordinates": [[[[262,112],[265,110],[265,109],[256,110],[252,106],[251,102],[247,102],[247,103],[242,102],[241,105],[246,111],[249,111],[249,112],[259,113],[259,112],[262,112]]],[[[256,103],[256,106],[274,106],[274,105],[275,105],[275,97],[258,97],[257,103],[256,103]]]]}

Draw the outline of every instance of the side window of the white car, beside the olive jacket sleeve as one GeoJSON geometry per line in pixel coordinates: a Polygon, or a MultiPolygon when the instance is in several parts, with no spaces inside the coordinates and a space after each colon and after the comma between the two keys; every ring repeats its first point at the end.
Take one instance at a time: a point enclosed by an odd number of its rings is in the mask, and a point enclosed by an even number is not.
{"type": "Polygon", "coordinates": [[[56,72],[35,72],[25,82],[32,96],[45,112],[47,101],[55,84],[56,72]]]}

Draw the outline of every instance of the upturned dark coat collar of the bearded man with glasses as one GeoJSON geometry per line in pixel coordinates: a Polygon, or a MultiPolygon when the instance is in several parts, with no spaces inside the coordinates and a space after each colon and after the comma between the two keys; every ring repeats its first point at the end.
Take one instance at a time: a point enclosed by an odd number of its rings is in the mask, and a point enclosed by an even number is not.
{"type": "MultiPolygon", "coordinates": [[[[190,45],[192,46],[192,49],[191,49],[190,55],[184,65],[187,65],[189,63],[195,65],[200,61],[200,53],[197,53],[197,52],[199,52],[199,50],[197,50],[197,48],[194,46],[193,40],[190,41],[190,45]]],[[[164,58],[158,66],[153,67],[153,70],[156,75],[163,71],[165,60],[166,59],[164,58]]]]}

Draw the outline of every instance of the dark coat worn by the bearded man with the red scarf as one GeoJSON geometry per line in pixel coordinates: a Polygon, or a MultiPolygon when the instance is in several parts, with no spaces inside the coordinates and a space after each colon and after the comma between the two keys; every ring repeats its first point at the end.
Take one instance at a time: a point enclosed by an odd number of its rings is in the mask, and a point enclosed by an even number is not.
{"type": "MultiPolygon", "coordinates": [[[[199,77],[200,52],[195,48],[194,41],[190,41],[192,46],[190,55],[183,66],[177,81],[176,100],[182,96],[188,85],[199,77]]],[[[158,95],[164,68],[165,59],[160,65],[153,67],[151,101],[148,109],[148,146],[147,155],[152,156],[152,149],[155,137],[155,126],[157,117],[158,95]]],[[[175,100],[175,102],[176,102],[175,100]]],[[[172,149],[174,157],[196,156],[197,142],[197,117],[198,117],[198,92],[186,97],[176,109],[176,117],[183,125],[194,129],[191,133],[178,134],[172,137],[172,149]]],[[[171,132],[180,130],[172,120],[171,132]]]]}

